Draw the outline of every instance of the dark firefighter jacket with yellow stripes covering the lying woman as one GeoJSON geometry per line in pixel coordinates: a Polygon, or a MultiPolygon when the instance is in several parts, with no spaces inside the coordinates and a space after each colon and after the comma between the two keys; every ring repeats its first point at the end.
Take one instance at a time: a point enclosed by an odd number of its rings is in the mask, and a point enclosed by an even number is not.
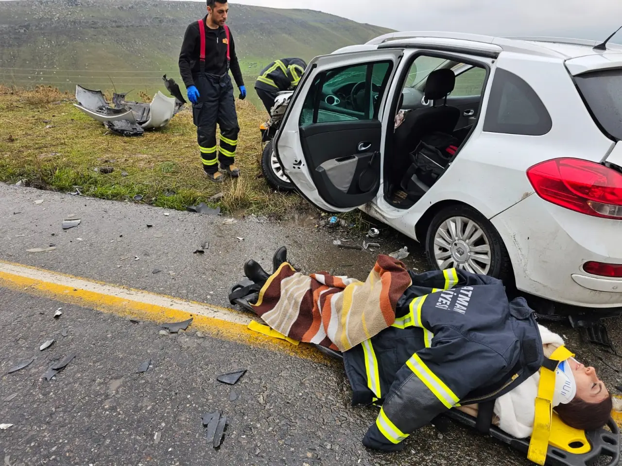
{"type": "Polygon", "coordinates": [[[501,281],[457,269],[411,277],[392,326],[343,353],[352,404],[381,406],[363,444],[388,452],[465,404],[479,404],[487,432],[494,400],[545,360],[533,311],[501,281]]]}

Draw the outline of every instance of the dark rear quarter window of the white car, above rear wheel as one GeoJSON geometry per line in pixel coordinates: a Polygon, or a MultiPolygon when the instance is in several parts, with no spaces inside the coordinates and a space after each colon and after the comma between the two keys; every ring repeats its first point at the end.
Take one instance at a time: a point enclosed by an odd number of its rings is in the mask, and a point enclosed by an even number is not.
{"type": "Polygon", "coordinates": [[[497,68],[486,108],[484,131],[541,136],[552,127],[536,91],[519,76],[497,68]]]}

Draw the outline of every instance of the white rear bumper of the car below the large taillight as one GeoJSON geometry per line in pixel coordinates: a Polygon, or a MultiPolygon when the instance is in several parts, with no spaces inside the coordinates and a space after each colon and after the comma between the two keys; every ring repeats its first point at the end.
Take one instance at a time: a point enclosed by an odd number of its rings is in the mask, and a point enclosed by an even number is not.
{"type": "Polygon", "coordinates": [[[519,290],[622,311],[622,279],[583,270],[588,261],[622,263],[622,221],[579,214],[531,194],[491,222],[508,249],[519,290]]]}

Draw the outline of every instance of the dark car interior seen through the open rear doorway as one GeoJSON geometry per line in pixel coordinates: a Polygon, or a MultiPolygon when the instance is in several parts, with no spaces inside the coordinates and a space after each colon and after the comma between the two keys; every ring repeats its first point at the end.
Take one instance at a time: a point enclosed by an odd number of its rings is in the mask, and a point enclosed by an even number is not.
{"type": "Polygon", "coordinates": [[[385,152],[389,203],[410,208],[445,173],[475,126],[485,79],[479,66],[415,59],[397,104],[392,150],[385,152]]]}

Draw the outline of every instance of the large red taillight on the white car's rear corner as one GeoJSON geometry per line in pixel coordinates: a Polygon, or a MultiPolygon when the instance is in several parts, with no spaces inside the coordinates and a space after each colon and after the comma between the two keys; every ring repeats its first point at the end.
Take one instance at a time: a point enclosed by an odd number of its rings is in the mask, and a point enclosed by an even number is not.
{"type": "Polygon", "coordinates": [[[536,193],[573,211],[622,219],[622,173],[578,158],[555,158],[527,170],[536,193]]]}

